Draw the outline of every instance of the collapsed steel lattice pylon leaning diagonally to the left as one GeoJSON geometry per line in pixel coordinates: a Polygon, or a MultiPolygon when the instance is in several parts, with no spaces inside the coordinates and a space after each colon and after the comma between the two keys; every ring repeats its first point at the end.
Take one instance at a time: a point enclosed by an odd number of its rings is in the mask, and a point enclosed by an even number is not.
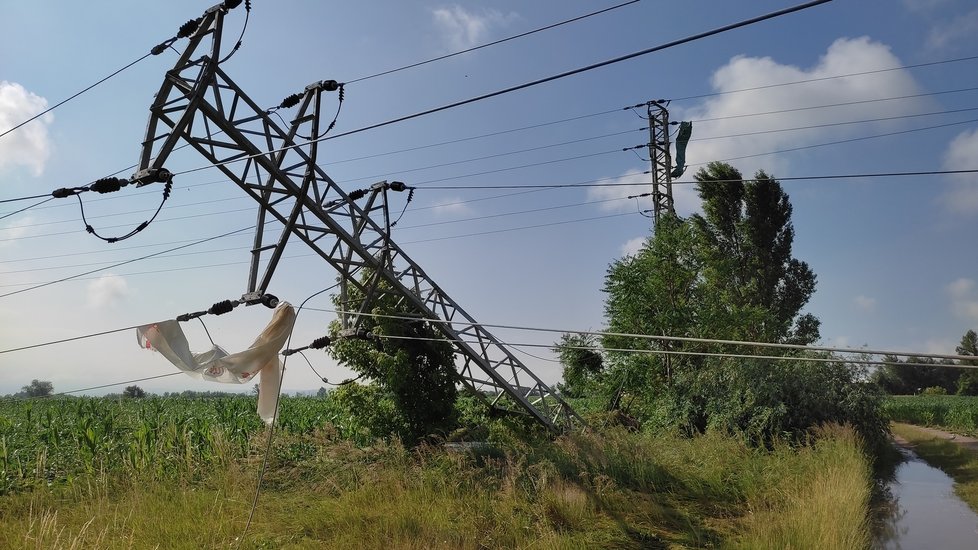
{"type": "MultiPolygon", "coordinates": [[[[319,116],[323,96],[342,93],[341,85],[316,82],[284,102],[295,103],[298,112],[283,129],[221,69],[224,17],[239,3],[228,0],[197,20],[150,107],[133,180],[140,185],[158,181],[178,143],[189,144],[259,205],[244,300],[265,295],[282,253],[297,238],[331,265],[345,285],[370,297],[377,292],[378,279],[357,275],[360,270],[374,273],[387,283],[384,292],[397,294],[436,320],[433,325],[455,347],[460,380],[492,406],[529,414],[553,431],[583,427],[559,395],[391,240],[387,193],[404,190],[403,184],[380,182],[347,193],[317,164],[324,134],[319,116]],[[195,58],[198,50],[203,54],[195,58]],[[358,204],[368,194],[364,206],[358,204]]],[[[356,317],[354,312],[344,321],[355,325],[356,317]]]]}

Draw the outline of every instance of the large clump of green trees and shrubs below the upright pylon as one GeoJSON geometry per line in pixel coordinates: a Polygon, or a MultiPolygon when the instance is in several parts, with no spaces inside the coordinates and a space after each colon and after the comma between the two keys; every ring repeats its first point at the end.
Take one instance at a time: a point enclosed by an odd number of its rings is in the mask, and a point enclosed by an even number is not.
{"type": "MultiPolygon", "coordinates": [[[[736,169],[722,163],[709,164],[695,177],[703,213],[689,219],[663,216],[637,254],[608,268],[607,330],[815,342],[819,321],[802,311],[815,291],[815,274],[792,255],[792,208],[781,185],[764,172],[744,181],[736,169]]],[[[606,366],[590,375],[590,391],[646,427],[687,435],[720,430],[771,445],[785,435],[802,441],[822,424],[848,423],[870,446],[885,445],[882,392],[868,382],[865,369],[842,359],[686,355],[832,358],[629,336],[605,336],[601,343],[606,366]]]]}

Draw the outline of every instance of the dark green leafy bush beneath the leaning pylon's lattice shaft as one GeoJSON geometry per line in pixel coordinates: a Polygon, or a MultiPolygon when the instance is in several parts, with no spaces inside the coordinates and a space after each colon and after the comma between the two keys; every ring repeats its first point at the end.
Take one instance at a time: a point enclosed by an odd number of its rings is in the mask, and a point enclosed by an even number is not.
{"type": "MultiPolygon", "coordinates": [[[[362,280],[369,285],[372,276],[367,272],[362,280]]],[[[363,293],[352,285],[345,299],[333,297],[341,311],[358,311],[363,300],[363,293]]],[[[427,436],[451,432],[457,426],[458,397],[452,344],[430,322],[403,319],[419,312],[387,283],[378,284],[367,313],[371,315],[362,316],[358,328],[373,338],[340,338],[340,322],[330,325],[328,353],[370,380],[341,388],[338,398],[353,404],[354,414],[365,416],[363,425],[375,436],[395,435],[414,445],[427,436]]]]}

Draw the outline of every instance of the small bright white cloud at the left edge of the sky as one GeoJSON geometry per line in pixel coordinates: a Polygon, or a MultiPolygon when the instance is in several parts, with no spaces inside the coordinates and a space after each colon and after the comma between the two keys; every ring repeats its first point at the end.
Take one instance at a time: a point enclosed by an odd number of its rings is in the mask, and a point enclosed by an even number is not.
{"type": "MultiPolygon", "coordinates": [[[[0,80],[0,132],[5,132],[47,108],[43,97],[27,91],[16,82],[0,80]]],[[[0,138],[0,170],[8,166],[26,166],[35,176],[44,173],[51,156],[48,126],[54,121],[50,113],[0,138]]]]}

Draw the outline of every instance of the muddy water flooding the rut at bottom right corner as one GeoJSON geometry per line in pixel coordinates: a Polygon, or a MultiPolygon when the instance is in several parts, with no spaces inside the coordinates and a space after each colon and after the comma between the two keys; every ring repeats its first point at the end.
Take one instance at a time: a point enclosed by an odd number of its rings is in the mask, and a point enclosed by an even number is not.
{"type": "Polygon", "coordinates": [[[912,451],[897,467],[893,495],[877,548],[954,550],[978,548],[978,515],[954,494],[954,480],[912,451]]]}

